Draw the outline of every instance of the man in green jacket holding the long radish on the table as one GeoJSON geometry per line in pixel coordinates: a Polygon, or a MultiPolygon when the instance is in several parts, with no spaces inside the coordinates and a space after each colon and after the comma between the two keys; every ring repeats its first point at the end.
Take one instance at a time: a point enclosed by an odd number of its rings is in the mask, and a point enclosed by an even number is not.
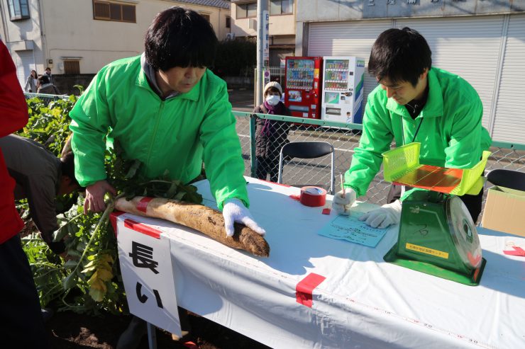
{"type": "Polygon", "coordinates": [[[145,52],[102,68],[70,113],[75,176],[86,187],[84,212],[104,210],[105,137],[116,139],[128,159],[143,163],[145,178],[169,171],[189,183],[206,166],[211,192],[223,211],[226,234],[233,223],[265,234],[250,216],[244,161],[226,83],[207,67],[218,40],[206,19],[180,7],[157,14],[145,52]]]}

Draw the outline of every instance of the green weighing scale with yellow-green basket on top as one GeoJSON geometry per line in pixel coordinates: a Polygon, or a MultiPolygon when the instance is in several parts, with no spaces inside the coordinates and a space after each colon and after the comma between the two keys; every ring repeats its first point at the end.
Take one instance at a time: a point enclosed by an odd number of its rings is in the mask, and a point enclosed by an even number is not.
{"type": "Polygon", "coordinates": [[[419,164],[421,144],[383,154],[385,181],[413,190],[402,202],[397,243],[385,261],[465,285],[478,285],[485,268],[472,217],[456,195],[477,194],[489,151],[473,168],[419,164]]]}

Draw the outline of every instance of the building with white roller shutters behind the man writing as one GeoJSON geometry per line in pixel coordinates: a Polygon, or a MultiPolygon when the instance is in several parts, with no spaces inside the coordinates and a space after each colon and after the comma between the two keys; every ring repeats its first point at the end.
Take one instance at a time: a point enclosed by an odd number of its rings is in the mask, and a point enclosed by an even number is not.
{"type": "MultiPolygon", "coordinates": [[[[382,31],[406,26],[429,42],[435,67],[474,86],[494,140],[525,144],[525,0],[297,0],[295,54],[367,64],[382,31]]],[[[375,86],[366,74],[365,96],[375,86]]]]}

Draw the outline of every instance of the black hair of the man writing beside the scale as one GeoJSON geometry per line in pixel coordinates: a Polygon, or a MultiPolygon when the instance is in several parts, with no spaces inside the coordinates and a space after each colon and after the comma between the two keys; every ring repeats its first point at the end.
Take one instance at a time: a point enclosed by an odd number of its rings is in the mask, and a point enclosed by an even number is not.
{"type": "Polygon", "coordinates": [[[378,80],[387,77],[392,83],[409,81],[416,86],[423,71],[432,66],[432,52],[417,30],[388,29],[372,46],[368,72],[378,80]]]}

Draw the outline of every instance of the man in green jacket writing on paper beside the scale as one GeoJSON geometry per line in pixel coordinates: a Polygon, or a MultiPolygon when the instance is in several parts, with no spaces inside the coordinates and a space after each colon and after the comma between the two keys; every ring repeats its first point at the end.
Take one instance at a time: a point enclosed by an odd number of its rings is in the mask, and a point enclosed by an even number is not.
{"type": "MultiPolygon", "coordinates": [[[[366,194],[380,170],[381,154],[389,150],[392,140],[396,147],[420,142],[421,164],[450,168],[473,167],[490,147],[475,89],[460,76],[431,64],[430,47],[416,30],[385,30],[375,41],[368,71],[379,86],[368,96],[363,135],[345,174],[347,193],[339,192],[333,200],[336,212],[348,214],[355,197],[366,194]]],[[[401,188],[392,186],[392,202],[360,219],[380,228],[399,223],[400,192],[401,188]]],[[[482,190],[460,198],[475,222],[481,212],[482,190]]]]}

